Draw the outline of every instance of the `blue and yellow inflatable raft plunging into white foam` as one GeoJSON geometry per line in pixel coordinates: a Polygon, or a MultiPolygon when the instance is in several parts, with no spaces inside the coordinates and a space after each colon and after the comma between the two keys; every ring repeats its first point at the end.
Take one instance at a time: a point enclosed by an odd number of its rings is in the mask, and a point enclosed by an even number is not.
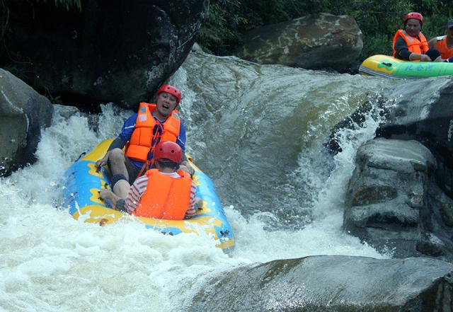
{"type": "MultiPolygon", "coordinates": [[[[69,214],[74,219],[85,222],[109,224],[120,220],[125,214],[108,206],[100,200],[98,191],[101,188],[110,189],[105,170],[96,172],[94,164],[105,155],[111,139],[101,142],[94,149],[74,162],[64,173],[64,207],[69,207],[69,214]]],[[[197,197],[203,204],[197,214],[187,220],[162,220],[135,217],[143,222],[148,229],[164,234],[198,233],[210,235],[218,241],[217,246],[223,250],[234,247],[234,235],[219,197],[215,192],[212,180],[193,165],[195,174],[193,181],[197,185],[197,197]]]]}

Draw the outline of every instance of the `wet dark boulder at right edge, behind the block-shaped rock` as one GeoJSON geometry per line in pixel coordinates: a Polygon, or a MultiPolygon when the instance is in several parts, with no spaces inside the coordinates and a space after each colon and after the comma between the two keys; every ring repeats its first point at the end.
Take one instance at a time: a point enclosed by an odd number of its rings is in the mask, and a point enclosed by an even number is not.
{"type": "Polygon", "coordinates": [[[437,184],[453,198],[453,79],[410,81],[385,97],[386,122],[377,136],[414,139],[428,147],[437,160],[437,184]]]}

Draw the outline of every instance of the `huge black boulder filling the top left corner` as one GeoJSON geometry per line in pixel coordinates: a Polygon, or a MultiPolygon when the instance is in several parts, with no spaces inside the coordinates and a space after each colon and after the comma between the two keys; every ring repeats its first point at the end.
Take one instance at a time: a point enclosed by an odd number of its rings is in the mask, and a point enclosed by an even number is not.
{"type": "Polygon", "coordinates": [[[149,100],[190,52],[208,0],[86,0],[67,11],[53,1],[5,0],[0,66],[75,103],[149,100]]]}

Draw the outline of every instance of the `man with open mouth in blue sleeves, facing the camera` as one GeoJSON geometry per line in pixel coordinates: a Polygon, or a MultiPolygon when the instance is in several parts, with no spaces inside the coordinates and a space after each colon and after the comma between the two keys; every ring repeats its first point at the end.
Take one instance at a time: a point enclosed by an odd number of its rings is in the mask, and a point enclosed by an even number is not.
{"type": "MultiPolygon", "coordinates": [[[[164,141],[175,141],[185,151],[185,127],[175,110],[181,93],[174,86],[163,85],[156,93],[156,104],[140,103],[139,112],[127,118],[120,135],[110,144],[103,158],[96,161],[98,170],[108,165],[111,183],[128,180],[130,185],[151,164],[155,146],[164,141]],[[122,151],[126,146],[125,152],[122,151]]],[[[183,156],[185,157],[185,156],[183,156]]],[[[181,169],[193,174],[184,158],[181,169]]],[[[122,194],[125,197],[126,194],[122,194]]]]}

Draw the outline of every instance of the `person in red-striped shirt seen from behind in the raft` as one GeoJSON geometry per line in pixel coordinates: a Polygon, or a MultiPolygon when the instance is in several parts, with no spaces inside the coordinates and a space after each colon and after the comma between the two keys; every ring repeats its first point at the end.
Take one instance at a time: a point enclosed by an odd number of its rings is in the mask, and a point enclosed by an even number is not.
{"type": "Polygon", "coordinates": [[[190,175],[178,171],[183,151],[172,141],[161,141],[154,151],[156,168],[137,178],[132,186],[119,180],[100,196],[110,201],[121,212],[156,219],[182,220],[195,215],[200,200],[195,197],[197,187],[190,175]],[[127,194],[125,198],[117,194],[127,194]]]}

